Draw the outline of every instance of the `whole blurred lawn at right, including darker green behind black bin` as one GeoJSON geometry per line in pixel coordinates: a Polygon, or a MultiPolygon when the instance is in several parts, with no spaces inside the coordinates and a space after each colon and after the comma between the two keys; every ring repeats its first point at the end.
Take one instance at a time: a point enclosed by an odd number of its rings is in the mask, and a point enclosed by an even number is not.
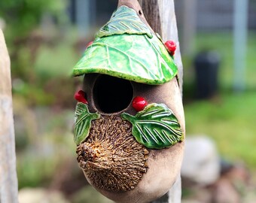
{"type": "MultiPolygon", "coordinates": [[[[239,43],[239,42],[237,42],[239,43]]],[[[221,55],[220,93],[212,100],[194,100],[194,68],[192,59],[184,60],[184,106],[187,135],[209,135],[221,156],[245,162],[256,169],[256,34],[249,32],[245,75],[245,92],[234,93],[233,35],[231,32],[199,33],[196,51],[217,50],[221,55]]]]}

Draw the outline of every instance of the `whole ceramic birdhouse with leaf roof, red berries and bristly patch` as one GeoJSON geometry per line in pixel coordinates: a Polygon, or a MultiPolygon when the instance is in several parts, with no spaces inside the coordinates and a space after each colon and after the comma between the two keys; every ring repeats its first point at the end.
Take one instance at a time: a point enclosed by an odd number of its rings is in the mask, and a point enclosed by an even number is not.
{"type": "Polygon", "coordinates": [[[73,69],[84,76],[75,94],[78,163],[116,202],[152,201],[178,177],[184,113],[170,44],[120,5],[73,69]]]}

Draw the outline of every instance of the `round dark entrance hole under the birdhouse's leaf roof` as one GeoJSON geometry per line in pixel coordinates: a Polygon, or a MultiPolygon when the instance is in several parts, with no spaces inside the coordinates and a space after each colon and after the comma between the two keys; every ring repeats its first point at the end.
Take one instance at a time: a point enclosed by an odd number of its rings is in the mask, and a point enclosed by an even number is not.
{"type": "Polygon", "coordinates": [[[133,86],[129,80],[100,75],[93,87],[96,108],[106,114],[123,111],[133,99],[133,86]]]}

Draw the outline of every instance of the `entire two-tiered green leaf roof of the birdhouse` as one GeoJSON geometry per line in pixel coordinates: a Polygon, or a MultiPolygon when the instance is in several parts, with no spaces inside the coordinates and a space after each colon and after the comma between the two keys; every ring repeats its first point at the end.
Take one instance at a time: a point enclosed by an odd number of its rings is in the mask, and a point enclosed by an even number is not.
{"type": "Polygon", "coordinates": [[[73,69],[74,76],[100,73],[148,84],[166,83],[177,72],[162,41],[126,6],[99,30],[73,69]]]}

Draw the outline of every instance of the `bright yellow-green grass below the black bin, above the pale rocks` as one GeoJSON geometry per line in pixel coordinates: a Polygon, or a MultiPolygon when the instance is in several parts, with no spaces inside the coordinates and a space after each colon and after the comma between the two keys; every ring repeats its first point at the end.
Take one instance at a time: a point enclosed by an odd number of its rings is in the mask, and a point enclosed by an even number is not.
{"type": "Polygon", "coordinates": [[[256,92],[222,94],[185,105],[187,136],[209,135],[225,159],[256,169],[256,92]]]}

